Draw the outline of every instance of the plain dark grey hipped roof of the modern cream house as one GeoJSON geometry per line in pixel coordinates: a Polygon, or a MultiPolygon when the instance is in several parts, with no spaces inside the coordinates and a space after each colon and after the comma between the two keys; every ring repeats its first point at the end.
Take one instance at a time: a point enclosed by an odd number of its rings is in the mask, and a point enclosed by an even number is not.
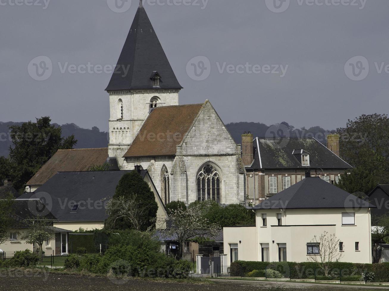
{"type": "Polygon", "coordinates": [[[253,209],[375,208],[370,203],[322,180],[309,177],[253,207],[253,209]]]}

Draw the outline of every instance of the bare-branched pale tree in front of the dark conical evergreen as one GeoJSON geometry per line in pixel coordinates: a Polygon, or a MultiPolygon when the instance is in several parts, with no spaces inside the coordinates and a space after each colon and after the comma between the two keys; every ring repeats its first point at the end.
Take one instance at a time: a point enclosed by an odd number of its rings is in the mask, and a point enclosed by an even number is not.
{"type": "Polygon", "coordinates": [[[105,206],[108,215],[105,227],[116,229],[117,221],[128,222],[136,230],[140,230],[144,222],[144,217],[151,205],[142,206],[137,195],[132,197],[119,196],[117,199],[110,199],[105,206]]]}

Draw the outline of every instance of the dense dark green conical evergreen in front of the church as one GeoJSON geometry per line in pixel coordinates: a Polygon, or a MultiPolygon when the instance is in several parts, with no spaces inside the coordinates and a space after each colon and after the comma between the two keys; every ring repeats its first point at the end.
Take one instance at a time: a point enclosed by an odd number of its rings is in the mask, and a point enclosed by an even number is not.
{"type": "Polygon", "coordinates": [[[109,205],[107,210],[111,211],[105,223],[108,229],[145,231],[155,228],[158,204],[149,184],[137,171],[123,175],[109,205]],[[119,216],[117,211],[112,211],[115,208],[121,211],[119,216]]]}

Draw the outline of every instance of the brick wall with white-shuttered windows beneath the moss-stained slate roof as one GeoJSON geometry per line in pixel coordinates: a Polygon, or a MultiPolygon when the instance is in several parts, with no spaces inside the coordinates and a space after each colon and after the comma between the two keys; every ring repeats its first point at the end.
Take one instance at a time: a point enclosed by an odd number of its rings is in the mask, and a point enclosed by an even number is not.
{"type": "MultiPolygon", "coordinates": [[[[330,181],[335,181],[335,177],[340,177],[345,170],[324,170],[324,176],[329,176],[330,181]]],[[[321,171],[320,171],[321,172],[321,171]]],[[[266,171],[246,171],[246,191],[249,196],[248,201],[253,205],[257,205],[267,197],[273,196],[269,189],[269,177],[277,177],[277,191],[283,189],[282,177],[291,177],[291,186],[300,182],[305,177],[304,169],[291,170],[266,170],[266,171]],[[255,197],[254,197],[255,196],[255,197]]],[[[323,177],[322,172],[319,175],[312,174],[312,177],[323,177]]]]}

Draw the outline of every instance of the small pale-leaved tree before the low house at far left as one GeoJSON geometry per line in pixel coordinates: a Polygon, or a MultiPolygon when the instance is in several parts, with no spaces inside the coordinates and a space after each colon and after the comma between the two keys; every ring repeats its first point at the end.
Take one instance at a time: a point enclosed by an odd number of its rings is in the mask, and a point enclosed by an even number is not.
{"type": "Polygon", "coordinates": [[[30,230],[22,237],[28,244],[38,244],[39,256],[42,258],[42,246],[45,241],[54,238],[53,230],[51,229],[52,222],[46,218],[37,217],[31,221],[32,226],[30,230]]]}

